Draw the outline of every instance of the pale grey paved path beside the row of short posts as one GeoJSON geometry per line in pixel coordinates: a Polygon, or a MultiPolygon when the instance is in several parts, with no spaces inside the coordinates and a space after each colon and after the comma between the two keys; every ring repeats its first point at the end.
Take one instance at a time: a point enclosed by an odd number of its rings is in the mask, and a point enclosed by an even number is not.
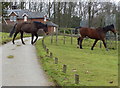
{"type": "Polygon", "coordinates": [[[50,86],[40,66],[36,50],[30,44],[31,38],[16,40],[2,46],[2,85],[3,86],[50,86]],[[8,56],[13,58],[8,58],[8,56]]]}

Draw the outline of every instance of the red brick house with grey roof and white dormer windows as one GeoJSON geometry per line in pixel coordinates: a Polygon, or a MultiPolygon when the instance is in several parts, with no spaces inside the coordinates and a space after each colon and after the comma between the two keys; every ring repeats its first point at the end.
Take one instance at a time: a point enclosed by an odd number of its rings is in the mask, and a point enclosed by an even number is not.
{"type": "Polygon", "coordinates": [[[56,32],[58,25],[49,21],[50,19],[43,12],[31,12],[29,10],[16,9],[13,6],[11,10],[7,10],[6,23],[9,25],[14,25],[15,23],[24,21],[39,21],[48,25],[49,32],[56,32]]]}

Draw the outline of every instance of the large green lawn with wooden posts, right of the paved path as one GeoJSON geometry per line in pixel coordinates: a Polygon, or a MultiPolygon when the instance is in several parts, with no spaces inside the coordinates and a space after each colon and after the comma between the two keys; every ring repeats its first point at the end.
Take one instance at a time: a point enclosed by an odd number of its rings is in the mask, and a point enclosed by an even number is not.
{"type": "MultiPolygon", "coordinates": [[[[76,48],[76,38],[73,44],[70,37],[66,37],[66,44],[63,44],[63,37],[58,37],[56,45],[55,37],[53,44],[50,37],[45,38],[45,44],[59,59],[58,65],[54,64],[54,58],[49,58],[42,47],[41,40],[36,44],[37,54],[44,70],[53,80],[61,86],[117,86],[118,85],[118,50],[106,51],[104,47],[99,48],[99,42],[94,50],[90,50],[93,40],[86,39],[83,48],[76,48]],[[62,65],[67,65],[67,73],[62,72],[62,65]],[[79,74],[80,83],[74,83],[74,74],[79,74]],[[113,83],[110,83],[113,82],[113,83]]],[[[102,45],[103,46],[103,45],[102,45]]]]}

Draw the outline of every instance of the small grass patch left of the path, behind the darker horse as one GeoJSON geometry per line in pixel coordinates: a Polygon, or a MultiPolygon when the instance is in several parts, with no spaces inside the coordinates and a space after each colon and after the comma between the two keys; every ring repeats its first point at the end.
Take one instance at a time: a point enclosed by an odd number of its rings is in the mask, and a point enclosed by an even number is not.
{"type": "MultiPolygon", "coordinates": [[[[29,37],[30,35],[28,34],[24,34],[24,37],[29,37]]],[[[4,32],[0,32],[0,45],[1,44],[5,44],[9,41],[11,41],[13,38],[9,37],[9,33],[4,33],[4,32]]],[[[16,39],[20,38],[20,34],[17,35],[16,39]]]]}

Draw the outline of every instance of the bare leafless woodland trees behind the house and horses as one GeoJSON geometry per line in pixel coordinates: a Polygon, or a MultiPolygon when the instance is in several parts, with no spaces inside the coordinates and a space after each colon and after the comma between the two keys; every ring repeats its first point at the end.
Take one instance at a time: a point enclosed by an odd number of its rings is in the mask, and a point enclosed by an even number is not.
{"type": "MultiPolygon", "coordinates": [[[[57,1],[57,0],[55,0],[57,1]]],[[[20,9],[29,9],[33,12],[44,12],[59,27],[80,26],[81,20],[87,20],[89,27],[104,26],[105,15],[117,14],[118,9],[114,3],[110,2],[3,2],[2,9],[9,9],[13,3],[20,9]]],[[[2,10],[5,11],[5,10],[2,10]]],[[[2,12],[5,14],[5,12],[2,12]]],[[[119,21],[119,14],[116,18],[119,21]]],[[[119,23],[118,23],[119,24],[119,23]]]]}

